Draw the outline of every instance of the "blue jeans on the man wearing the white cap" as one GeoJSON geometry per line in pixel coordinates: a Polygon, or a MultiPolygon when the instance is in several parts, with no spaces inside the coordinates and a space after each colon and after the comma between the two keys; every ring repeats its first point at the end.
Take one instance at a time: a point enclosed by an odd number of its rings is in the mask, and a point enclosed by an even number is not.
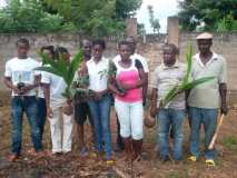
{"type": "Polygon", "coordinates": [[[189,107],[188,109],[191,121],[191,136],[190,136],[190,152],[197,158],[200,155],[199,151],[199,136],[201,123],[205,130],[205,157],[206,159],[214,159],[215,149],[209,150],[208,146],[216,130],[218,109],[204,109],[189,107]]]}

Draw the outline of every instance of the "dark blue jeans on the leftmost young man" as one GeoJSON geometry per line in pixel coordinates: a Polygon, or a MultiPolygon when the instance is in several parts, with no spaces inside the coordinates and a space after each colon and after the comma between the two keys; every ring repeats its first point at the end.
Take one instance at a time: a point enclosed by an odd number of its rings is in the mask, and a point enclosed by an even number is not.
{"type": "Polygon", "coordinates": [[[40,141],[40,131],[37,123],[37,100],[36,97],[13,97],[11,100],[11,122],[12,122],[12,154],[20,155],[21,150],[21,135],[22,135],[22,119],[23,111],[30,125],[31,140],[36,151],[42,149],[40,141]]]}

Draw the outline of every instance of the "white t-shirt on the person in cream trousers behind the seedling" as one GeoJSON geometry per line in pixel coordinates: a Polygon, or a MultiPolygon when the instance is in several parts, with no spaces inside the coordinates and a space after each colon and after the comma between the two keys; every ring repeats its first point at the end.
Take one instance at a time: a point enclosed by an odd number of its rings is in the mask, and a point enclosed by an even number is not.
{"type": "Polygon", "coordinates": [[[41,83],[50,85],[50,107],[59,108],[66,102],[66,98],[62,96],[67,85],[63,78],[50,72],[41,72],[41,83]]]}

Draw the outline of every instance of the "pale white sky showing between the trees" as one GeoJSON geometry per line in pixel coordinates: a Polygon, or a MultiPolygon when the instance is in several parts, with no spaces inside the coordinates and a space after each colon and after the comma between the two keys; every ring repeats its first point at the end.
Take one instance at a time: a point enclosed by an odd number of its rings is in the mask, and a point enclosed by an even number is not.
{"type": "MultiPolygon", "coordinates": [[[[4,6],[4,0],[0,0],[0,7],[4,6]]],[[[178,13],[177,0],[142,0],[140,9],[137,11],[137,19],[139,23],[145,24],[146,32],[152,32],[149,22],[149,14],[147,6],[154,7],[154,16],[159,19],[160,32],[167,31],[167,17],[175,16],[178,13]]]]}

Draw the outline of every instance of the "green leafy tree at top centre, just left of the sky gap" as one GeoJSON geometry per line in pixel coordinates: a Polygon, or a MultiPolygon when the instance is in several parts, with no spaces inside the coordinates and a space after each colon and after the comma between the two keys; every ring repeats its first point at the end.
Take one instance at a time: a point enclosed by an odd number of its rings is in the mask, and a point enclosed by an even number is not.
{"type": "Polygon", "coordinates": [[[141,0],[43,0],[80,32],[90,36],[112,34],[125,29],[141,0]]]}

